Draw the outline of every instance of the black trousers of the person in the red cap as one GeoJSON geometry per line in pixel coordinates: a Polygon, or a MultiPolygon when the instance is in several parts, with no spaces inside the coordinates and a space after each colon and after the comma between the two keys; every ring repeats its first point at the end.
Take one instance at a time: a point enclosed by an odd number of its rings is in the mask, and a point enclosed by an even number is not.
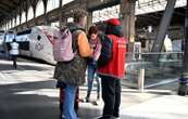
{"type": "Polygon", "coordinates": [[[103,117],[120,116],[121,105],[121,80],[101,76],[102,100],[104,102],[103,117]]]}

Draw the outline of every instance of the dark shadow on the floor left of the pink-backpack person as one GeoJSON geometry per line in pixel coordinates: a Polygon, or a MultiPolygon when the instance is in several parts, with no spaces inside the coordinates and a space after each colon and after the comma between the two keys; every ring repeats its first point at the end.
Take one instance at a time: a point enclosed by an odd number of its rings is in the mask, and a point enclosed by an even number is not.
{"type": "Polygon", "coordinates": [[[1,119],[59,119],[58,97],[16,94],[39,89],[54,89],[53,81],[0,85],[1,119]]]}

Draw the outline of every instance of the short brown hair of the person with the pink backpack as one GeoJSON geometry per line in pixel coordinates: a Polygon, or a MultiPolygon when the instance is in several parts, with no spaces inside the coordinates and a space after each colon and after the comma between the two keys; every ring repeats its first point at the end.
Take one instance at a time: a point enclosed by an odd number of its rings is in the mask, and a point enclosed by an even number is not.
{"type": "Polygon", "coordinates": [[[83,9],[74,10],[74,13],[73,13],[74,22],[79,23],[87,15],[88,13],[83,9]]]}

